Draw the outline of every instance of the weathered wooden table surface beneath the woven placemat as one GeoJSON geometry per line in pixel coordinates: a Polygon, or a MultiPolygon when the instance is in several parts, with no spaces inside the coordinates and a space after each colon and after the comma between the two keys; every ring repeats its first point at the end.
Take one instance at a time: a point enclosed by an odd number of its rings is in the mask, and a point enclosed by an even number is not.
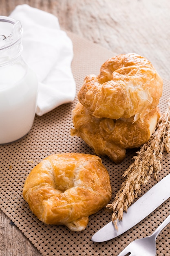
{"type": "MultiPolygon", "coordinates": [[[[0,0],[0,15],[18,4],[53,13],[63,29],[115,54],[147,57],[163,79],[170,79],[169,0],[0,0]]],[[[0,256],[40,256],[21,231],[0,212],[0,256]]]]}

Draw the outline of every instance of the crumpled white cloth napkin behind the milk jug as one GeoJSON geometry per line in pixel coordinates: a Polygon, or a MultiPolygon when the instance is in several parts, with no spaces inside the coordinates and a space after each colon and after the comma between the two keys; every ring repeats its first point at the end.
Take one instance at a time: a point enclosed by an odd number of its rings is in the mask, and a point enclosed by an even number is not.
{"type": "Polygon", "coordinates": [[[60,29],[57,17],[27,4],[18,5],[10,17],[22,24],[22,56],[38,77],[36,114],[42,116],[63,103],[73,101],[73,45],[60,29]]]}

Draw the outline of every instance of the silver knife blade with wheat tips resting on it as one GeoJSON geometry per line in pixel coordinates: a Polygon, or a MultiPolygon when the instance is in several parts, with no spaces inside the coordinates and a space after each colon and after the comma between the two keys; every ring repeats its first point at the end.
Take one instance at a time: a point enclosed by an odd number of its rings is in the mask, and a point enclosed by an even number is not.
{"type": "Polygon", "coordinates": [[[135,226],[159,205],[170,197],[170,174],[155,184],[124,213],[123,220],[117,222],[118,231],[112,221],[97,231],[91,238],[93,242],[105,242],[113,239],[135,226]]]}

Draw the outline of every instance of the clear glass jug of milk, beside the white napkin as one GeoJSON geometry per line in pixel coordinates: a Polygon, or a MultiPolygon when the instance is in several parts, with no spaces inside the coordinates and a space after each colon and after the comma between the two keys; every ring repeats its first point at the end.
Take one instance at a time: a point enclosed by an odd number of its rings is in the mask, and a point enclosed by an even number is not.
{"type": "Polygon", "coordinates": [[[20,21],[0,16],[0,144],[26,135],[35,117],[38,81],[21,54],[20,21]]]}

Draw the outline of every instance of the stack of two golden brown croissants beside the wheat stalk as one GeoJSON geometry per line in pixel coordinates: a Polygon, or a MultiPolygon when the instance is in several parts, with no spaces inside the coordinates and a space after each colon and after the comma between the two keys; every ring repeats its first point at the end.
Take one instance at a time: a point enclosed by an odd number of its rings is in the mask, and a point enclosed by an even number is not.
{"type": "Polygon", "coordinates": [[[146,58],[133,53],[110,58],[98,76],[84,79],[71,134],[118,164],[127,148],[143,145],[154,132],[162,90],[163,81],[146,58]]]}

